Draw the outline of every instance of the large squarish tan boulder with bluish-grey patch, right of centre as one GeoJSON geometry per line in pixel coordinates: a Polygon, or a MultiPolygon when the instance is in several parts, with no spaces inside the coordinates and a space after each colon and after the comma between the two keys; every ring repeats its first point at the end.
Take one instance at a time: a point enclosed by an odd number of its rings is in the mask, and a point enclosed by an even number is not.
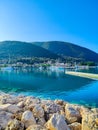
{"type": "Polygon", "coordinates": [[[81,114],[78,105],[66,104],[65,116],[68,123],[81,122],[81,114]]]}

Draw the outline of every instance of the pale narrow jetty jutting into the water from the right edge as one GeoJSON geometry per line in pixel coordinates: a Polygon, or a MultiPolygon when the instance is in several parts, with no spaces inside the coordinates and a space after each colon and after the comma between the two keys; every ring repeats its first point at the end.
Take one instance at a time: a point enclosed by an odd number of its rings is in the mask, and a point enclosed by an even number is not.
{"type": "Polygon", "coordinates": [[[75,71],[66,71],[65,73],[68,75],[74,75],[74,76],[89,78],[89,79],[93,79],[93,80],[98,80],[98,74],[75,72],[75,71]]]}

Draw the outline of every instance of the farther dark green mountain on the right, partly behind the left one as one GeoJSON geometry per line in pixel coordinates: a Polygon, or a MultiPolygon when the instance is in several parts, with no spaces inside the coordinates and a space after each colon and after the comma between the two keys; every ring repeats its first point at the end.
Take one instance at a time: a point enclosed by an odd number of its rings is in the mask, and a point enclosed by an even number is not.
{"type": "Polygon", "coordinates": [[[43,47],[63,57],[81,58],[86,61],[98,62],[98,54],[96,52],[72,43],[61,41],[49,41],[49,42],[33,42],[33,44],[43,47]]]}

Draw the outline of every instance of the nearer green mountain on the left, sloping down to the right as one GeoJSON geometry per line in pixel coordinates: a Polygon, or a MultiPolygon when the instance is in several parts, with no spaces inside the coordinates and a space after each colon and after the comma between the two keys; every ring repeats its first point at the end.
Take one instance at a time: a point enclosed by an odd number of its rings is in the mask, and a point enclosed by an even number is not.
{"type": "Polygon", "coordinates": [[[0,42],[0,58],[11,57],[46,57],[57,59],[59,56],[40,46],[20,41],[0,42]]]}

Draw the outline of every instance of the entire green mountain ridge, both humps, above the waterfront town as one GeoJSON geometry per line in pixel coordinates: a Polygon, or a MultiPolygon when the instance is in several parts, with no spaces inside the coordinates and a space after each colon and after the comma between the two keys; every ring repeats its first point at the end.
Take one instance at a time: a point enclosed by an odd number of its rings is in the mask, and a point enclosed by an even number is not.
{"type": "Polygon", "coordinates": [[[10,53],[13,57],[46,57],[58,58],[80,58],[86,61],[98,62],[98,54],[86,47],[64,42],[22,42],[22,41],[2,41],[0,42],[0,57],[8,57],[10,53]]]}

